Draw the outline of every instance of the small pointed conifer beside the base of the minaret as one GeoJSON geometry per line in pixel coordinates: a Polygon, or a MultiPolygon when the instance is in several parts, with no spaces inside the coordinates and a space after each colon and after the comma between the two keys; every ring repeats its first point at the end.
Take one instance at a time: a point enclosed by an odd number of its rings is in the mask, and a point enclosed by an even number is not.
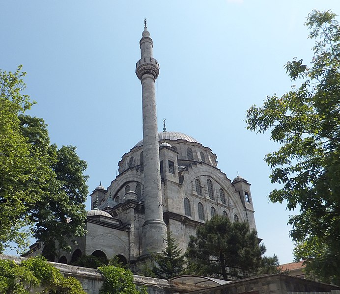
{"type": "Polygon", "coordinates": [[[166,243],[167,246],[162,254],[155,255],[157,266],[152,270],[156,277],[161,279],[170,279],[181,275],[185,265],[182,249],[178,248],[178,243],[170,231],[167,232],[166,243]]]}

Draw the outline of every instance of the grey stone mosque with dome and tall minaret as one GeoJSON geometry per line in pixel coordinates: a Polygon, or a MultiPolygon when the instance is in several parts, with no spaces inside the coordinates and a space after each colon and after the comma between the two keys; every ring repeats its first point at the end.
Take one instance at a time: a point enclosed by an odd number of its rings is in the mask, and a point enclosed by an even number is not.
{"type": "Polygon", "coordinates": [[[136,64],[142,83],[143,139],[122,156],[111,185],[100,185],[90,194],[87,234],[72,245],[71,252],[59,253],[60,263],[95,255],[138,264],[150,253],[162,252],[167,230],[185,250],[198,225],[215,214],[247,221],[256,230],[250,184],[245,179],[239,175],[228,179],[209,147],[190,135],[167,131],[165,120],[164,131],[158,133],[159,63],[152,47],[145,24],[136,64]]]}

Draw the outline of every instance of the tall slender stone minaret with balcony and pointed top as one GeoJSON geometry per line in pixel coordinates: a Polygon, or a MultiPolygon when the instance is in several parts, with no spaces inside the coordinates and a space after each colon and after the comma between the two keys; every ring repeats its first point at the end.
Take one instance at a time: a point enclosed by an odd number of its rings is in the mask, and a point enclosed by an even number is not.
{"type": "Polygon", "coordinates": [[[142,255],[160,253],[165,248],[167,227],[163,221],[161,174],[156,113],[155,81],[159,64],[152,57],[152,39],[146,28],[140,41],[141,59],[136,75],[142,83],[143,156],[145,222],[142,229],[142,255]]]}

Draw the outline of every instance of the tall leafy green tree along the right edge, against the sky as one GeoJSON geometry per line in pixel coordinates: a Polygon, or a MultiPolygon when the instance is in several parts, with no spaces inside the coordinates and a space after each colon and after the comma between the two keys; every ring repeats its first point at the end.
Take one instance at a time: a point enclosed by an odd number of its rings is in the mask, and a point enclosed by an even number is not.
{"type": "Polygon", "coordinates": [[[315,39],[310,65],[293,59],[286,65],[301,84],[267,97],[247,111],[248,129],[271,132],[282,146],[265,156],[272,183],[272,202],[299,210],[288,223],[297,242],[295,259],[307,273],[340,285],[340,26],[330,11],[312,11],[306,26],[315,39]]]}

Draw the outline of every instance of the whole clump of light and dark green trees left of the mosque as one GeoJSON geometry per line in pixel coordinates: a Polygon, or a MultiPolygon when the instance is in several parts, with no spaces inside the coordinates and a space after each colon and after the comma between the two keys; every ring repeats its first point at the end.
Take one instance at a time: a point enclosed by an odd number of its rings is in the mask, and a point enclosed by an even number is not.
{"type": "Polygon", "coordinates": [[[50,143],[43,119],[30,117],[22,67],[0,70],[0,252],[28,237],[56,242],[84,234],[86,162],[75,147],[50,143]],[[71,220],[71,221],[70,221],[71,220]]]}

